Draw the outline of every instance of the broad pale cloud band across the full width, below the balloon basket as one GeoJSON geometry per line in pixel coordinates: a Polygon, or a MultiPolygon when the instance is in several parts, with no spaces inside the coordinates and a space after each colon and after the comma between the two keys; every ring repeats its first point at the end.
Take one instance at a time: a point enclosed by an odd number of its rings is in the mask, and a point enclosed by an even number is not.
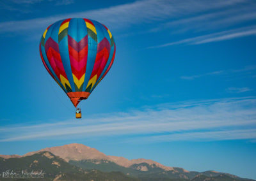
{"type": "Polygon", "coordinates": [[[255,97],[229,98],[158,105],[127,113],[86,118],[81,122],[66,120],[52,124],[5,126],[0,127],[0,141],[124,135],[136,135],[138,139],[153,136],[156,141],[181,138],[200,141],[204,133],[207,133],[208,140],[256,139],[253,134],[255,123],[255,97]],[[164,139],[166,136],[168,139],[164,139]]]}

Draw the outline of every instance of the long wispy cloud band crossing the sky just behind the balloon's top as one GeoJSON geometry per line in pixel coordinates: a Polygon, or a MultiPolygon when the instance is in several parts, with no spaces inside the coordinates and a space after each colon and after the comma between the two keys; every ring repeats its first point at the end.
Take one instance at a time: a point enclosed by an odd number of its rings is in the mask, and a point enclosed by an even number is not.
{"type": "MultiPolygon", "coordinates": [[[[36,1],[36,0],[24,0],[36,1]]],[[[38,0],[39,1],[39,0],[38,0]]],[[[0,33],[31,31],[35,29],[45,29],[49,24],[57,20],[69,17],[87,17],[97,19],[104,24],[111,24],[112,28],[127,27],[134,24],[150,23],[154,21],[166,20],[171,17],[191,15],[192,13],[204,12],[225,8],[234,4],[244,3],[242,0],[228,1],[166,1],[147,0],[135,1],[109,8],[89,10],[79,13],[67,13],[52,17],[34,18],[28,20],[10,21],[0,23],[0,33]]],[[[42,30],[43,31],[43,30],[42,30]]]]}

